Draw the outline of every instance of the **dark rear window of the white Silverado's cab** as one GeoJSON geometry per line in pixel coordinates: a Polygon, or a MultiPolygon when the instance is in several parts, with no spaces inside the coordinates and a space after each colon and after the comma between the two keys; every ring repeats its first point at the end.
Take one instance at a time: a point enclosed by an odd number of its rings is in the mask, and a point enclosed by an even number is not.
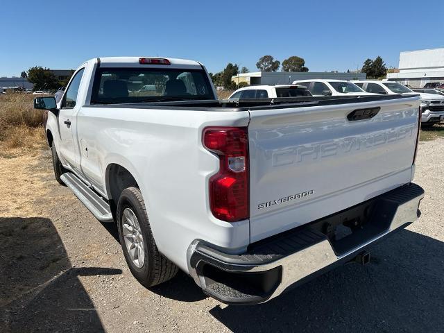
{"type": "Polygon", "coordinates": [[[214,99],[205,71],[200,69],[100,68],[91,103],[141,103],[214,99]]]}

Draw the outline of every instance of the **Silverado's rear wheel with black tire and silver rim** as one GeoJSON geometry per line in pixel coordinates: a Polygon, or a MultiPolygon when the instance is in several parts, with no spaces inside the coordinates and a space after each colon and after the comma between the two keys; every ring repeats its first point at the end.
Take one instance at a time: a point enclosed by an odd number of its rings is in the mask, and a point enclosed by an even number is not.
{"type": "MultiPolygon", "coordinates": [[[[126,264],[128,264],[131,273],[140,284],[145,287],[153,287],[170,280],[178,273],[178,266],[157,250],[144,199],[137,187],[128,187],[121,193],[119,203],[117,203],[117,228],[119,229],[119,239],[126,264]],[[130,222],[128,217],[133,216],[132,214],[137,218],[139,228],[137,228],[137,225],[136,228],[131,227],[131,223],[134,221],[130,222]],[[130,229],[133,229],[135,236],[134,233],[131,234],[130,229]],[[138,238],[140,234],[142,239],[138,238]],[[138,244],[133,248],[135,254],[130,255],[127,244],[131,244],[134,239],[138,239],[136,241],[138,244]],[[135,257],[138,259],[135,259],[135,257]],[[143,261],[139,259],[142,257],[143,261]]],[[[129,247],[131,248],[130,245],[129,247]]]]}

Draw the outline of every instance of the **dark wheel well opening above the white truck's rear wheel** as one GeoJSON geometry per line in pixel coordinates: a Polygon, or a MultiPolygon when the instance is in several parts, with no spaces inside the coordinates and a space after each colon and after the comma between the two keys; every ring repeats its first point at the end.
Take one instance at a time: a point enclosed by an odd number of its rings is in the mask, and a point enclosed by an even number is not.
{"type": "Polygon", "coordinates": [[[108,198],[113,201],[116,207],[123,189],[131,186],[139,188],[139,185],[137,185],[137,182],[133,175],[131,175],[130,171],[119,164],[110,164],[106,174],[108,175],[108,198]]]}

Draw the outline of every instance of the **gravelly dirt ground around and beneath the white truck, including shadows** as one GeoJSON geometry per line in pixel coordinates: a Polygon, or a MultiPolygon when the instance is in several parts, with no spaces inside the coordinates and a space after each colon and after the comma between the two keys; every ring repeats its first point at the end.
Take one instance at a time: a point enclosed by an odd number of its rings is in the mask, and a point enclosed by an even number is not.
{"type": "Polygon", "coordinates": [[[48,150],[0,158],[0,332],[443,332],[444,139],[420,142],[422,216],[264,305],[207,298],[185,273],[142,287],[112,224],[53,179],[48,150]]]}

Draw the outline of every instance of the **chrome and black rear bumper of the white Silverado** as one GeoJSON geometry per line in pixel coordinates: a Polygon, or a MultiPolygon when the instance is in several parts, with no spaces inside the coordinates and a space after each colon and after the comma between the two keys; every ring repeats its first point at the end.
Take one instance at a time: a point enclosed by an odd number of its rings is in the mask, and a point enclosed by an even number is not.
{"type": "Polygon", "coordinates": [[[226,304],[266,302],[350,261],[376,241],[416,221],[423,197],[423,189],[412,183],[373,198],[371,219],[341,241],[315,227],[337,220],[345,211],[251,244],[241,255],[223,253],[196,240],[187,253],[189,273],[207,295],[226,304]]]}

